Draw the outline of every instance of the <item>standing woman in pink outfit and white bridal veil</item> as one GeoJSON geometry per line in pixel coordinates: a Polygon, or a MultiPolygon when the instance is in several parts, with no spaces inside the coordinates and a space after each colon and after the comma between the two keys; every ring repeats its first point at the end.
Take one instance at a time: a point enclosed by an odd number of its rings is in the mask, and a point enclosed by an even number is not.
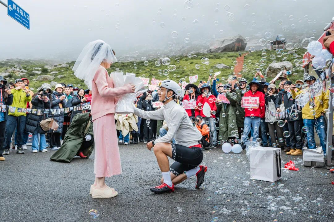
{"type": "Polygon", "coordinates": [[[91,116],[93,120],[95,159],[95,182],[90,194],[93,198],[114,197],[118,193],[105,184],[105,177],[122,173],[121,159],[115,125],[117,97],[133,93],[134,85],[114,88],[107,69],[116,62],[115,52],[102,40],[89,43],[73,66],[74,75],[84,79],[92,90],[91,116]],[[93,102],[94,101],[94,102],[93,102]]]}

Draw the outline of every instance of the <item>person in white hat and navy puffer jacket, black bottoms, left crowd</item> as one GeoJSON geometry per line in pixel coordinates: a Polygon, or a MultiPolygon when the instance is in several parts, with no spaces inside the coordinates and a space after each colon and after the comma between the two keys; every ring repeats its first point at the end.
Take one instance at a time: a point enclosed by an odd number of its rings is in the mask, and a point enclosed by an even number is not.
{"type": "Polygon", "coordinates": [[[51,94],[51,110],[49,110],[48,117],[53,118],[59,125],[58,129],[48,131],[48,140],[51,150],[58,150],[60,148],[60,137],[64,123],[64,111],[60,109],[66,108],[66,96],[63,94],[64,88],[61,84],[57,84],[51,94]],[[52,110],[55,112],[52,113],[52,110]]]}

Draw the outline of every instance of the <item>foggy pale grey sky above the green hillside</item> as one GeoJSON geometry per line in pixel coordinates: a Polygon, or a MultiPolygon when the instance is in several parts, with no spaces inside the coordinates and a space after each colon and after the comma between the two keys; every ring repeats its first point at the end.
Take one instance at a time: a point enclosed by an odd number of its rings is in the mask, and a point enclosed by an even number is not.
{"type": "Polygon", "coordinates": [[[176,55],[205,50],[210,41],[237,34],[249,37],[248,46],[261,38],[273,40],[278,34],[297,43],[320,36],[334,16],[333,0],[193,0],[190,9],[184,2],[16,0],[30,14],[30,30],[9,17],[0,4],[0,60],[73,61],[96,39],[109,43],[121,60],[159,57],[158,52],[176,55]],[[228,11],[225,5],[229,5],[228,11]],[[232,21],[228,12],[234,14],[232,21]],[[173,31],[178,33],[176,38],[173,31]],[[266,32],[272,37],[266,38],[266,32]]]}

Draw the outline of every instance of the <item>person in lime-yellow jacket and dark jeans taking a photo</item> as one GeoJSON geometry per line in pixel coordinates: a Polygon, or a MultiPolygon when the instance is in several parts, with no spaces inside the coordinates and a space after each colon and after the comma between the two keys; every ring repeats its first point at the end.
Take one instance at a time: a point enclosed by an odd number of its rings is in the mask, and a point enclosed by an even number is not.
{"type": "Polygon", "coordinates": [[[27,102],[31,101],[29,90],[24,87],[23,80],[15,80],[15,88],[11,90],[13,103],[8,109],[6,121],[6,139],[4,154],[9,154],[10,139],[12,138],[15,127],[17,128],[17,150],[16,153],[23,154],[23,131],[25,127],[27,102]]]}

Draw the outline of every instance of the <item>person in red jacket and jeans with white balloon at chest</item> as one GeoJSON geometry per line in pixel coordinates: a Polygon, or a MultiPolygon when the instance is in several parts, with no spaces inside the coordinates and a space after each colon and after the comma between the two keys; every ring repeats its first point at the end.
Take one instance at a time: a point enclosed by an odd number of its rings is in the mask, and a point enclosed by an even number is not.
{"type": "Polygon", "coordinates": [[[200,88],[199,88],[199,93],[200,95],[197,98],[197,102],[196,102],[196,106],[198,107],[200,113],[199,115],[203,117],[203,121],[205,123],[209,123],[209,127],[212,133],[212,148],[216,148],[217,147],[217,131],[216,131],[216,123],[213,121],[216,118],[216,111],[217,111],[217,107],[216,107],[216,97],[213,96],[210,93],[210,86],[207,85],[206,83],[204,83],[200,88]],[[210,116],[206,116],[203,113],[203,106],[204,104],[207,103],[210,108],[211,108],[211,115],[210,116]]]}

